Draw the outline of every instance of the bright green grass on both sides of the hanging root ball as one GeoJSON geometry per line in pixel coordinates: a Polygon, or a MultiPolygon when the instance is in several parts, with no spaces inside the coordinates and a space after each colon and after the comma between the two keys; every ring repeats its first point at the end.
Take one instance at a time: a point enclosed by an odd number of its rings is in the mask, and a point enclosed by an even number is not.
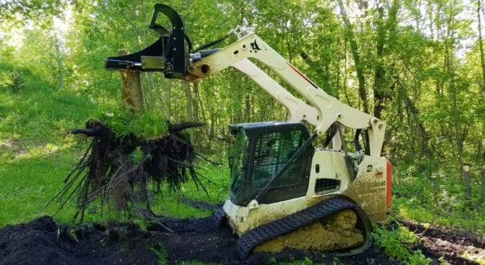
{"type": "MultiPolygon", "coordinates": [[[[25,69],[1,64],[0,76],[0,227],[21,223],[45,214],[53,215],[60,207],[51,204],[63,187],[63,180],[83,155],[87,142],[71,135],[72,128],[82,128],[90,117],[108,105],[96,105],[79,92],[59,91],[33,76],[25,69]],[[12,74],[13,73],[13,74],[12,74]],[[20,85],[12,89],[12,76],[20,76],[20,85]],[[10,79],[9,79],[10,78],[10,79]]],[[[116,100],[116,99],[114,99],[116,100]]],[[[115,105],[115,104],[113,104],[115,105]]],[[[188,183],[180,193],[165,191],[163,202],[157,203],[159,212],[173,216],[207,216],[207,210],[197,210],[179,203],[180,198],[209,200],[222,203],[225,194],[227,169],[220,171],[201,164],[200,172],[219,183],[202,189],[188,183]],[[222,183],[221,183],[222,182],[222,183]],[[162,207],[163,205],[163,207],[162,207]]],[[[71,221],[75,202],[71,200],[55,217],[71,221]]],[[[102,221],[96,203],[87,212],[85,221],[102,221]]],[[[114,218],[116,216],[109,216],[114,218]]]]}

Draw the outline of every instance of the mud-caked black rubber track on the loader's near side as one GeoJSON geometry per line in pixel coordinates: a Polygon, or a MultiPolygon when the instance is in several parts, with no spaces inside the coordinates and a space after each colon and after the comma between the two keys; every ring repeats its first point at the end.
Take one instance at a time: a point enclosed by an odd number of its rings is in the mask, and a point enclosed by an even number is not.
{"type": "Polygon", "coordinates": [[[353,255],[369,248],[370,232],[362,208],[344,198],[330,198],[250,230],[237,245],[243,257],[252,250],[280,252],[286,247],[353,255]]]}

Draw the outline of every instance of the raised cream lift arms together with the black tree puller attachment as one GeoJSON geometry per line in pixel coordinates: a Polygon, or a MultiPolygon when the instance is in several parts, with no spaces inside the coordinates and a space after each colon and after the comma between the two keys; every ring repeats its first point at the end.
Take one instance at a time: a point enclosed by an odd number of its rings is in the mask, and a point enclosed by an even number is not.
{"type": "Polygon", "coordinates": [[[238,40],[229,46],[200,51],[200,53],[191,53],[192,45],[184,33],[182,19],[169,6],[155,5],[155,11],[150,19],[150,28],[160,34],[157,42],[137,53],[108,58],[105,68],[162,71],[166,78],[195,81],[227,67],[234,67],[252,78],[274,99],[282,103],[290,114],[288,121],[308,121],[315,125],[317,135],[324,135],[335,121],[347,128],[367,130],[370,155],[380,157],[386,128],[383,121],[351,108],[326,94],[323,89],[301,74],[296,67],[247,28],[238,26],[233,31],[238,35],[238,40]],[[172,23],[170,32],[163,26],[155,24],[159,12],[170,19],[172,23]],[[310,105],[290,94],[264,71],[252,64],[249,58],[259,60],[269,67],[310,105]]]}

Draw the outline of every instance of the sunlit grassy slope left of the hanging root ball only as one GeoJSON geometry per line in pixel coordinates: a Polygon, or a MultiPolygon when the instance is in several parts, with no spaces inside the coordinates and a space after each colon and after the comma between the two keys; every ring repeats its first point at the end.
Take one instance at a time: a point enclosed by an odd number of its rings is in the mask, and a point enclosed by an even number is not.
{"type": "MultiPolygon", "coordinates": [[[[96,110],[76,93],[55,91],[23,73],[25,87],[0,89],[0,226],[55,212],[55,206],[45,205],[82,154],[69,131],[96,110]]],[[[73,210],[66,207],[60,220],[67,221],[73,210]]]]}

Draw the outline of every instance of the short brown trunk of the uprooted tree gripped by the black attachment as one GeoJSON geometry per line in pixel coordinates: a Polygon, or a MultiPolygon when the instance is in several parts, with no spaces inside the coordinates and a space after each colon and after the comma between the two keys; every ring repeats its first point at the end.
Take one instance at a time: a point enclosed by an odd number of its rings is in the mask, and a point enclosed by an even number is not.
{"type": "MultiPolygon", "coordinates": [[[[128,51],[125,49],[118,50],[118,55],[127,54],[128,51]]],[[[135,113],[143,111],[140,71],[132,69],[121,70],[121,108],[130,108],[135,113]]]]}

